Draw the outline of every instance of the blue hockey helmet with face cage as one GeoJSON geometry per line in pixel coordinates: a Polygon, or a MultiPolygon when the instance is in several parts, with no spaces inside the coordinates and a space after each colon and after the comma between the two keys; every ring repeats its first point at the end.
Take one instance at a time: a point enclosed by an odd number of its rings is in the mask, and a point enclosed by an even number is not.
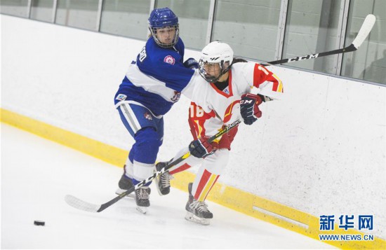
{"type": "Polygon", "coordinates": [[[150,13],[149,19],[149,29],[152,33],[154,41],[162,48],[171,48],[175,46],[175,43],[178,42],[179,30],[178,30],[178,17],[171,11],[170,8],[155,8],[152,13],[150,13]],[[163,28],[175,29],[175,35],[171,43],[161,43],[159,38],[157,38],[157,29],[163,28]]]}

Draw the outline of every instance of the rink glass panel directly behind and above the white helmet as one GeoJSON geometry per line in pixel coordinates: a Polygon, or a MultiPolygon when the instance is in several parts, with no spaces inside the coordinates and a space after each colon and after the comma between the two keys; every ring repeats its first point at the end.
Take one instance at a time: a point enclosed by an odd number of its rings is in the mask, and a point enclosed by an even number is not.
{"type": "Polygon", "coordinates": [[[280,0],[220,0],[215,7],[211,41],[224,41],[234,55],[274,60],[280,0]]]}

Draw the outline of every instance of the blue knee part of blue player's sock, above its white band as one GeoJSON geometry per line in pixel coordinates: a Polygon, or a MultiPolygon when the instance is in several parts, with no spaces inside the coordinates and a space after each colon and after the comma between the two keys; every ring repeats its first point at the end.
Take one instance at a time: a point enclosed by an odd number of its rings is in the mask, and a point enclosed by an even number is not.
{"type": "Polygon", "coordinates": [[[154,164],[157,159],[161,140],[154,127],[144,127],[135,134],[135,144],[132,150],[135,151],[133,160],[137,162],[154,164]]]}

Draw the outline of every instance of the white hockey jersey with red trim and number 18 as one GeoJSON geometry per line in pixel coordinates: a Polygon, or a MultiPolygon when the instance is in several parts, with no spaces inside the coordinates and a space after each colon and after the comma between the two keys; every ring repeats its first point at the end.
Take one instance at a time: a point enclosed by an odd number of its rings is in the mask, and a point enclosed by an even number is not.
{"type": "Polygon", "coordinates": [[[223,125],[241,119],[241,95],[258,88],[258,94],[280,99],[283,94],[281,80],[267,68],[254,62],[237,62],[229,70],[229,84],[218,90],[213,83],[195,79],[182,94],[192,102],[190,119],[194,121],[197,136],[212,136],[223,125]]]}

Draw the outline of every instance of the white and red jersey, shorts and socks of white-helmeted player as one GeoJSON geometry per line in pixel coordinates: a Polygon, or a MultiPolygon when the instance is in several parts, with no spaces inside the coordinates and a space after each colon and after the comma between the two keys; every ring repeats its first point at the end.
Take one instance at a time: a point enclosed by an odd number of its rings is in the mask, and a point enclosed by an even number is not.
{"type": "MultiPolygon", "coordinates": [[[[280,79],[265,67],[253,62],[233,64],[229,70],[228,83],[227,88],[221,91],[214,84],[207,83],[204,78],[194,77],[188,88],[182,90],[182,94],[192,100],[189,109],[189,125],[194,139],[213,136],[223,125],[241,119],[239,105],[241,95],[251,92],[253,87],[258,88],[258,94],[271,99],[280,99],[283,94],[280,79]]],[[[192,186],[194,199],[203,202],[222,174],[236,133],[237,127],[218,139],[219,149],[212,155],[206,158],[189,157],[169,170],[171,174],[175,174],[201,164],[192,186]]],[[[174,159],[179,158],[186,151],[187,148],[184,148],[175,155],[174,159]]]]}

